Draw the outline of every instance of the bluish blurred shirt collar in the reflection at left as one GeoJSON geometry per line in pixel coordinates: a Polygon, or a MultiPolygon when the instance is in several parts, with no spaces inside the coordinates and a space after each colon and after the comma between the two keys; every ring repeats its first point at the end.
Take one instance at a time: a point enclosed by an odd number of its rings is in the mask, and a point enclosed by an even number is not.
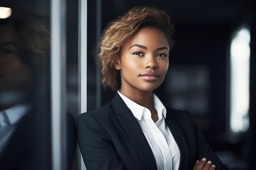
{"type": "Polygon", "coordinates": [[[28,112],[29,109],[29,105],[22,104],[13,106],[4,111],[10,121],[10,124],[14,124],[16,121],[22,118],[28,112]]]}

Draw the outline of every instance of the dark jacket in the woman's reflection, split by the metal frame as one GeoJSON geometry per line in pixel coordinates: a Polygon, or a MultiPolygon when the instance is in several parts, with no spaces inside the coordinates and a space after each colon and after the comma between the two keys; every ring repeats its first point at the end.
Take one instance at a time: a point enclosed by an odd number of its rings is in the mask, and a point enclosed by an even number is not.
{"type": "MultiPolygon", "coordinates": [[[[0,155],[0,170],[41,170],[50,169],[50,141],[38,139],[41,132],[48,132],[48,129],[41,129],[36,124],[36,113],[34,110],[27,113],[18,120],[16,128],[10,139],[7,141],[0,155]],[[45,144],[47,142],[47,144],[45,144]],[[44,143],[44,144],[43,144],[44,143]],[[42,148],[43,147],[43,148],[42,148]],[[43,150],[43,151],[42,151],[43,150]],[[43,164],[43,165],[42,165],[43,164]]],[[[47,125],[49,126],[49,125],[47,125]]],[[[76,148],[75,120],[71,114],[67,114],[67,169],[71,170],[76,148]]],[[[43,137],[45,137],[44,134],[43,137]]]]}

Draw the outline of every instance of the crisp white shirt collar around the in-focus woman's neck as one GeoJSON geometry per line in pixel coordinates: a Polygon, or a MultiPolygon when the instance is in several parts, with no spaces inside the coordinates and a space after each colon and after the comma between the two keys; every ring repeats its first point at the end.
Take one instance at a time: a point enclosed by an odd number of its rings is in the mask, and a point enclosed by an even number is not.
{"type": "MultiPolygon", "coordinates": [[[[133,102],[131,99],[124,96],[120,91],[117,91],[117,93],[124,100],[126,106],[131,110],[134,117],[136,117],[138,120],[141,120],[141,117],[146,108],[144,106],[141,106],[133,102]]],[[[162,115],[164,116],[164,118],[166,118],[166,108],[154,93],[153,93],[153,105],[155,107],[155,110],[157,111],[157,116],[159,117],[159,119],[162,119],[162,115]]]]}

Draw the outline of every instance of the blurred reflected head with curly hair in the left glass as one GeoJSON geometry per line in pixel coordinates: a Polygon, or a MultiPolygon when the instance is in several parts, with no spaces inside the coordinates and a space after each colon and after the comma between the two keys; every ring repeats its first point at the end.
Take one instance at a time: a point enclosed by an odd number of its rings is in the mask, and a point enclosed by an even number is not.
{"type": "MultiPolygon", "coordinates": [[[[34,78],[49,57],[49,29],[33,7],[16,7],[0,20],[0,35],[1,110],[33,95],[34,78]]],[[[46,74],[43,71],[40,75],[46,74]]]]}

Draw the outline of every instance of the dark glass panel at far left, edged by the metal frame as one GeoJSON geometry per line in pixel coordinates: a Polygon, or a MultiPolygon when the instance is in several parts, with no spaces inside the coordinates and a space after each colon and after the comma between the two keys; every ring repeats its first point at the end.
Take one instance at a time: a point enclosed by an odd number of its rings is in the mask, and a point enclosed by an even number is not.
{"type": "Polygon", "coordinates": [[[0,169],[49,170],[49,1],[0,6],[0,169]]]}

